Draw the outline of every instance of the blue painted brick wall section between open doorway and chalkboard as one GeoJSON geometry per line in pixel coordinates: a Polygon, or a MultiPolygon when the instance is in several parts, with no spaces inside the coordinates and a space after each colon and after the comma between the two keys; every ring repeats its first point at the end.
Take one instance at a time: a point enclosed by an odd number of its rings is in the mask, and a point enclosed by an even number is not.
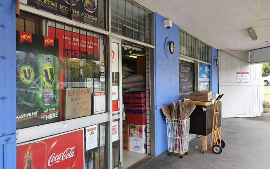
{"type": "Polygon", "coordinates": [[[168,149],[166,122],[161,107],[179,100],[179,29],[164,27],[164,18],[154,13],[154,76],[155,76],[155,150],[156,156],[168,149]],[[167,43],[175,44],[174,54],[167,51],[167,43]]]}

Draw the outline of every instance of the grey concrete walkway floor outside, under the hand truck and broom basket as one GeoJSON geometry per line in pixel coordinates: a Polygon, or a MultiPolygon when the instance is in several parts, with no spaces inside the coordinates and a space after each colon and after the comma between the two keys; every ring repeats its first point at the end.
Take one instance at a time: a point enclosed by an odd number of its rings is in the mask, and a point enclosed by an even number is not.
{"type": "Polygon", "coordinates": [[[270,168],[270,113],[263,113],[258,118],[222,119],[222,140],[226,142],[226,147],[221,154],[200,152],[202,140],[196,136],[189,144],[189,155],[184,155],[183,159],[174,154],[169,157],[168,152],[164,152],[139,168],[270,168]]]}

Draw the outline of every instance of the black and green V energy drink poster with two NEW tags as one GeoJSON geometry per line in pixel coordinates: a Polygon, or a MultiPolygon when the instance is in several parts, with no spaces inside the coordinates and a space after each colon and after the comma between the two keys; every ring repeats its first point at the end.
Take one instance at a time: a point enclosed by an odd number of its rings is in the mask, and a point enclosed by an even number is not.
{"type": "Polygon", "coordinates": [[[16,31],[17,128],[60,120],[58,39],[16,31]]]}

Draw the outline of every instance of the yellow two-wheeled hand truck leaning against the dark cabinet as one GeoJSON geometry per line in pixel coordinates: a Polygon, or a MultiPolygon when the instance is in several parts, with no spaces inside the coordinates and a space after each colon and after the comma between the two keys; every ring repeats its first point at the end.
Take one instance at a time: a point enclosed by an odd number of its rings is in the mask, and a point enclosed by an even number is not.
{"type": "Polygon", "coordinates": [[[225,147],[225,142],[221,139],[220,130],[217,127],[218,122],[218,106],[219,100],[222,98],[222,95],[218,95],[217,99],[214,102],[214,110],[213,110],[213,120],[212,120],[212,134],[211,134],[211,147],[207,152],[214,152],[215,154],[220,154],[222,152],[222,148],[225,147]]]}

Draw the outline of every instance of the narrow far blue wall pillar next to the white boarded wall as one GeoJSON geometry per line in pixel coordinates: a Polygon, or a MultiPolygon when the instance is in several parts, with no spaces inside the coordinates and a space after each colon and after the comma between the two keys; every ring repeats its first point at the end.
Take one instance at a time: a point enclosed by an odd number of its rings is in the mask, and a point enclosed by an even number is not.
{"type": "Polygon", "coordinates": [[[215,59],[218,59],[218,50],[211,46],[211,71],[212,71],[212,78],[211,78],[211,86],[212,86],[212,93],[218,93],[218,66],[215,64],[215,59]]]}

